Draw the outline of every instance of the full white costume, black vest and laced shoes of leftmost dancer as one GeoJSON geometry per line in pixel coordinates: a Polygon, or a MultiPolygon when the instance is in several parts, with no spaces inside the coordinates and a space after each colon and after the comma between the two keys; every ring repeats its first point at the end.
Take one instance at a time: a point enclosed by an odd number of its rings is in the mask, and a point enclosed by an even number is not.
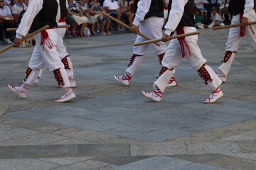
{"type": "Polygon", "coordinates": [[[49,25],[50,28],[36,34],[36,47],[28,63],[28,69],[26,70],[26,77],[23,84],[18,87],[12,86],[11,84],[8,85],[12,91],[23,98],[26,98],[28,88],[37,78],[39,69],[43,69],[45,66],[55,74],[55,79],[58,81],[58,84],[63,85],[64,95],[54,101],[64,102],[75,98],[75,94],[70,88],[68,74],[64,69],[64,65],[60,60],[56,48],[58,33],[55,27],[59,19],[59,0],[29,1],[28,9],[21,20],[21,24],[18,26],[18,30],[16,30],[16,38],[26,36],[29,29],[33,32],[46,25],[49,25]]]}

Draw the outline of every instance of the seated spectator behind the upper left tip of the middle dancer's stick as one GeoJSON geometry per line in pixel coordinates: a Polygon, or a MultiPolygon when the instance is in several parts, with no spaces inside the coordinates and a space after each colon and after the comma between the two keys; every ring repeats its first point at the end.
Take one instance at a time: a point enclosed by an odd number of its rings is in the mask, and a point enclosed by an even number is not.
{"type": "MultiPolygon", "coordinates": [[[[97,17],[97,23],[100,26],[100,33],[102,35],[106,35],[107,33],[104,31],[104,28],[106,26],[107,30],[110,28],[110,18],[107,18],[107,16],[102,16],[102,11],[105,11],[104,8],[102,8],[101,4],[97,2],[98,0],[92,0],[92,2],[89,4],[90,8],[90,14],[92,16],[97,17]]],[[[95,30],[95,24],[92,24],[92,31],[95,30]]]]}

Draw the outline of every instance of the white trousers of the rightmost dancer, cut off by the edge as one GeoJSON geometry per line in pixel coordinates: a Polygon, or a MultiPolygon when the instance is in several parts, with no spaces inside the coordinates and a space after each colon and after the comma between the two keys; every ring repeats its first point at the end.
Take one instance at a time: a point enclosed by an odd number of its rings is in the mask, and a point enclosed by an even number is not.
{"type": "MultiPolygon", "coordinates": [[[[250,15],[248,17],[249,22],[256,21],[256,13],[252,9],[250,12],[250,15]]],[[[240,14],[233,16],[233,19],[231,21],[231,24],[237,24],[240,23],[240,14]]],[[[256,52],[256,26],[251,25],[248,27],[245,27],[245,38],[247,42],[249,43],[250,47],[254,52],[256,52]]],[[[240,41],[242,40],[242,37],[240,37],[240,27],[234,27],[230,28],[229,35],[228,35],[228,41],[226,43],[226,51],[230,52],[238,52],[238,47],[240,44],[240,41]]],[[[230,60],[228,62],[223,62],[220,67],[217,69],[217,72],[222,72],[225,75],[228,75],[228,72],[230,71],[231,64],[233,63],[233,60],[235,58],[235,53],[230,57],[230,60]]]]}

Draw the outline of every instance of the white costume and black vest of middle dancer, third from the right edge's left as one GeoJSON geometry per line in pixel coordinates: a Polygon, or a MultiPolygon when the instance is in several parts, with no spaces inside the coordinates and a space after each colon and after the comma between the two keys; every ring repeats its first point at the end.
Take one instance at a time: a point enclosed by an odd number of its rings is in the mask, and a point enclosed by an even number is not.
{"type": "MultiPolygon", "coordinates": [[[[135,0],[134,1],[135,18],[133,21],[134,26],[139,26],[139,31],[152,39],[161,38],[162,28],[164,26],[164,1],[163,0],[135,0]]],[[[145,38],[137,35],[135,42],[145,41],[145,38]]],[[[151,44],[156,55],[159,56],[159,62],[163,60],[164,53],[166,52],[166,45],[164,42],[159,42],[161,45],[151,44]]],[[[134,72],[142,62],[146,50],[149,45],[140,45],[133,47],[133,55],[126,69],[126,74],[123,77],[114,76],[117,81],[129,85],[134,72]]],[[[174,77],[170,80],[169,86],[176,86],[174,77]]]]}

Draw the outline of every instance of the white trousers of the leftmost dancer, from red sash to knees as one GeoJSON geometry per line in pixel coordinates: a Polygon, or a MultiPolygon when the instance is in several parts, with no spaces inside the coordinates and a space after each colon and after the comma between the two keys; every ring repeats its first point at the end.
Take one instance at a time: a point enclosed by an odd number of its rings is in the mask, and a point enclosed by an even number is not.
{"type": "Polygon", "coordinates": [[[31,60],[28,63],[28,67],[31,69],[43,69],[46,65],[48,69],[52,72],[55,69],[63,68],[64,65],[60,60],[59,54],[57,52],[56,44],[58,40],[58,35],[55,29],[46,30],[50,41],[53,43],[53,48],[50,49],[47,44],[40,45],[41,43],[41,33],[36,34],[36,46],[33,50],[31,60]]]}

